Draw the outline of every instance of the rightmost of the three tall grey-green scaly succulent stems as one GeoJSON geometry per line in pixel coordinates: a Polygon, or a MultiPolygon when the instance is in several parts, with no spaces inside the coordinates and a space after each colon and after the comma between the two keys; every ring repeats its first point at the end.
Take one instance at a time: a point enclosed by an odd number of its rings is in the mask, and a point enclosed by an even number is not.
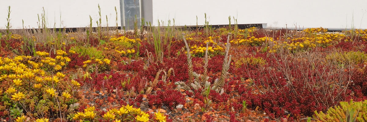
{"type": "MultiPolygon", "coordinates": [[[[229,52],[229,48],[230,48],[230,44],[229,44],[230,35],[231,35],[231,33],[228,33],[226,51],[225,51],[226,55],[224,56],[221,77],[219,78],[219,80],[214,81],[214,86],[212,87],[212,89],[214,89],[216,92],[220,91],[220,89],[222,88],[222,86],[225,83],[224,80],[225,80],[225,78],[228,74],[229,64],[230,64],[230,60],[231,60],[231,57],[232,57],[232,55],[228,56],[228,52],[229,52]]],[[[223,91],[221,91],[221,92],[223,92],[223,91]]]]}

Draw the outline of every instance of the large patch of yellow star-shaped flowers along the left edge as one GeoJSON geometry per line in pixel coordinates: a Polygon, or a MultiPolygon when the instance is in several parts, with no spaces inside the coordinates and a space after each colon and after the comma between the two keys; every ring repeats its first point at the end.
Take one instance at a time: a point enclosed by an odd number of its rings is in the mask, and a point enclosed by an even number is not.
{"type": "MultiPolygon", "coordinates": [[[[58,82],[63,82],[62,84],[68,84],[66,81],[66,75],[62,72],[54,73],[52,70],[48,69],[46,63],[50,62],[57,62],[58,60],[63,60],[68,62],[70,60],[65,55],[66,52],[57,51],[57,56],[61,56],[61,58],[50,58],[47,57],[48,54],[45,52],[38,52],[36,54],[38,56],[15,56],[14,58],[3,58],[0,57],[0,81],[3,83],[2,89],[0,89],[0,93],[4,94],[3,97],[7,97],[8,102],[11,104],[10,106],[14,106],[14,104],[19,102],[27,102],[27,101],[35,101],[32,106],[40,106],[39,101],[36,100],[45,100],[46,104],[42,104],[42,106],[50,106],[55,102],[49,97],[41,97],[35,99],[34,95],[39,95],[40,93],[43,96],[51,96],[57,98],[65,98],[65,99],[58,99],[65,103],[66,99],[72,97],[70,94],[70,90],[62,90],[68,89],[62,86],[62,89],[57,84],[58,82]],[[42,55],[42,56],[40,56],[42,55]],[[65,57],[64,57],[65,56],[65,57]],[[43,63],[41,60],[48,60],[48,62],[43,63]],[[51,75],[54,74],[54,75],[51,75]],[[66,83],[65,83],[66,82],[66,83]],[[52,86],[52,87],[50,87],[52,86]],[[62,96],[58,96],[57,93],[62,93],[62,96]],[[6,95],[6,96],[5,96],[6,95]]],[[[108,60],[106,60],[108,62],[108,60]]],[[[75,86],[80,86],[79,83],[69,83],[75,84],[75,86]]],[[[66,104],[63,104],[66,105],[66,104]]],[[[31,106],[30,106],[31,107],[31,106]]],[[[6,108],[8,109],[8,107],[6,108]]],[[[2,109],[4,110],[4,109],[2,109]]],[[[47,112],[49,108],[45,108],[47,112]]],[[[33,115],[34,111],[29,111],[30,115],[33,115]]],[[[26,116],[17,117],[15,121],[23,122],[27,121],[26,116]]],[[[48,122],[48,118],[35,118],[36,122],[48,122]]]]}

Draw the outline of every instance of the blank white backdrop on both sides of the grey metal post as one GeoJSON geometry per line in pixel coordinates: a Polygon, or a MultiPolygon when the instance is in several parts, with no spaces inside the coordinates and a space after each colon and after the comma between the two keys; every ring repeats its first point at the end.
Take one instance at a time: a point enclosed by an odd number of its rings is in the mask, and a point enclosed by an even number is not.
{"type": "MultiPolygon", "coordinates": [[[[89,15],[93,25],[98,19],[98,3],[102,11],[102,25],[116,25],[115,6],[119,0],[0,0],[0,29],[5,29],[7,6],[11,6],[13,29],[37,27],[37,14],[45,8],[48,25],[86,27],[89,15]],[[61,13],[61,14],[60,14],[61,13]]],[[[176,25],[204,24],[207,13],[209,24],[228,24],[228,16],[235,16],[239,24],[268,23],[270,27],[327,27],[367,29],[367,0],[153,0],[153,20],[175,18],[176,25]],[[353,22],[352,22],[353,21],[353,22]]],[[[233,23],[233,21],[232,21],[233,23]]]]}

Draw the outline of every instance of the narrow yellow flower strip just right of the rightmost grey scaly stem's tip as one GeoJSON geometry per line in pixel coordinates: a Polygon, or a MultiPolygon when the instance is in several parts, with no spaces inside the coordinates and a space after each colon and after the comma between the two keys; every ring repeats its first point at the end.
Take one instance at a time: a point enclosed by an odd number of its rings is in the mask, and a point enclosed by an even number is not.
{"type": "Polygon", "coordinates": [[[263,43],[266,43],[267,41],[273,41],[272,37],[261,37],[261,38],[255,38],[254,36],[248,38],[248,39],[237,39],[230,41],[234,44],[246,44],[251,46],[260,46],[263,43]]]}

